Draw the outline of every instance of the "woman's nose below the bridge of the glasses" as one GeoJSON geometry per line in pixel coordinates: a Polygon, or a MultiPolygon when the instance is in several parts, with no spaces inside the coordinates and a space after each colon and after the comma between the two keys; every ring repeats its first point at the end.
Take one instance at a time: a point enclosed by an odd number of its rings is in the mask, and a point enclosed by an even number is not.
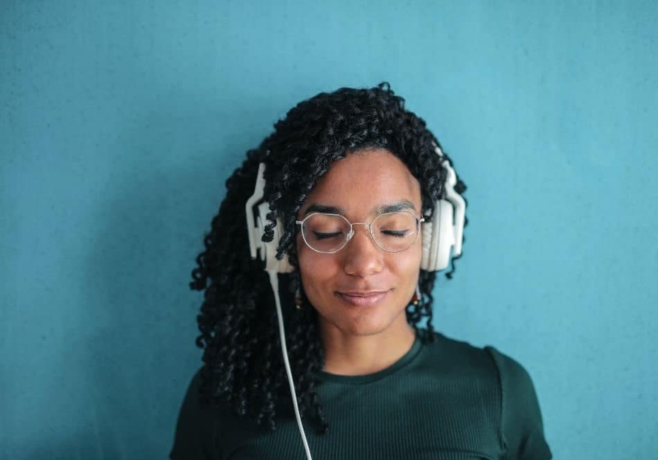
{"type": "Polygon", "coordinates": [[[354,235],[344,252],[344,270],[348,275],[366,277],[384,268],[384,251],[373,241],[367,226],[353,226],[354,235]],[[359,228],[360,227],[360,228],[359,228]]]}

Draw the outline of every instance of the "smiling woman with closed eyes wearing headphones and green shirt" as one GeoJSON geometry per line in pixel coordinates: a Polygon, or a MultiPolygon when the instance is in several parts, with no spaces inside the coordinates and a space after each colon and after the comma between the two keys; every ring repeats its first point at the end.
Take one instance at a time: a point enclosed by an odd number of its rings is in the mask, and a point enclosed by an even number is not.
{"type": "Polygon", "coordinates": [[[170,458],[551,458],[523,367],[434,331],[466,187],[387,84],[301,102],[226,187],[170,458]]]}

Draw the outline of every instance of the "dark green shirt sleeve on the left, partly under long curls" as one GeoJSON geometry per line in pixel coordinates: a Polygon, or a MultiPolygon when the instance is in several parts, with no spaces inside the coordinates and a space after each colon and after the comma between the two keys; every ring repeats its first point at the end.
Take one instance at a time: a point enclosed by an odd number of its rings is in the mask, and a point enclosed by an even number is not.
{"type": "Polygon", "coordinates": [[[169,454],[171,460],[215,460],[219,458],[216,448],[217,417],[210,406],[199,403],[201,369],[193,376],[188,386],[176,424],[174,445],[169,454]]]}

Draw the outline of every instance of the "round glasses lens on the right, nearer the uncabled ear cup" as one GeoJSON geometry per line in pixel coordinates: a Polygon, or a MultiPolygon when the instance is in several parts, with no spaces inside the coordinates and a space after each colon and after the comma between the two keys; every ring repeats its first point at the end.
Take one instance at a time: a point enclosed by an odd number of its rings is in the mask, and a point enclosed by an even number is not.
{"type": "Polygon", "coordinates": [[[409,248],[418,237],[418,219],[410,212],[381,214],[371,227],[377,245],[391,252],[409,248]]]}

